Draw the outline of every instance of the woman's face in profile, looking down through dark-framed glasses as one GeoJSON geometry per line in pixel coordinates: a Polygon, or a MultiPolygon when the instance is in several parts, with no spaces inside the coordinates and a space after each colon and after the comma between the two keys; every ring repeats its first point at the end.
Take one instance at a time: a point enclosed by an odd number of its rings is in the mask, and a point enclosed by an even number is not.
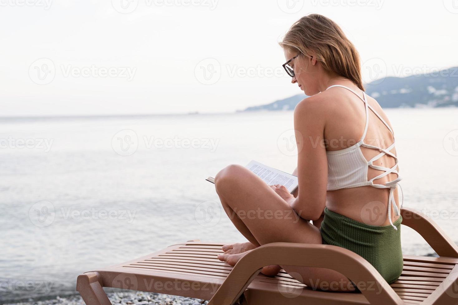
{"type": "MultiPolygon", "coordinates": [[[[296,56],[299,52],[284,50],[285,59],[288,61],[296,56]]],[[[291,79],[293,84],[297,83],[300,90],[304,91],[305,95],[312,96],[319,93],[317,84],[317,65],[316,59],[308,56],[299,55],[288,64],[294,70],[294,77],[291,79]]]]}

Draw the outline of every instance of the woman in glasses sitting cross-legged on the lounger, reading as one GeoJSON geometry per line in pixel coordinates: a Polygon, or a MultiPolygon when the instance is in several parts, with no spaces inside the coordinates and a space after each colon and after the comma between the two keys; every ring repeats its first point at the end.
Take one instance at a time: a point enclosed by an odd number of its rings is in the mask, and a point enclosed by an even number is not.
{"type": "MultiPolygon", "coordinates": [[[[248,242],[223,246],[218,259],[234,266],[247,251],[277,241],[331,244],[364,257],[391,284],[403,268],[401,178],[388,118],[364,93],[359,54],[336,23],[317,14],[295,22],[280,45],[291,82],[310,96],[294,109],[301,147],[293,173],[298,193],[268,186],[243,166],[219,171],[218,196],[248,242]],[[249,210],[277,214],[247,217],[249,210]]],[[[311,287],[355,290],[348,278],[330,269],[282,268],[311,287]]],[[[262,273],[279,270],[267,266],[262,273]]]]}

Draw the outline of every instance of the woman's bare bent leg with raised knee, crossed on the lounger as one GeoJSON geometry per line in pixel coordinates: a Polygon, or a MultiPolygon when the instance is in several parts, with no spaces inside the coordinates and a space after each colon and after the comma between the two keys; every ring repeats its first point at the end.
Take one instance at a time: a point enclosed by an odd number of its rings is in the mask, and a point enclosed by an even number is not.
{"type": "MultiPolygon", "coordinates": [[[[224,254],[218,255],[221,261],[234,266],[248,251],[271,242],[322,243],[316,226],[300,218],[283,198],[245,167],[226,166],[215,176],[215,187],[229,219],[249,241],[223,246],[224,254]]],[[[331,269],[287,265],[281,268],[310,287],[339,283],[339,288],[333,290],[354,290],[347,277],[331,269]]],[[[262,269],[266,275],[279,271],[276,265],[262,269]]]]}

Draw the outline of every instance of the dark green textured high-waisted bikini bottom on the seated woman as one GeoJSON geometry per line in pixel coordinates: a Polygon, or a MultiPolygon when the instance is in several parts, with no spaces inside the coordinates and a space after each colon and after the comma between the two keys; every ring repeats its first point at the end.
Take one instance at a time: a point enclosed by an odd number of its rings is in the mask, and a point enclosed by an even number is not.
{"type": "Polygon", "coordinates": [[[401,222],[399,216],[393,224],[398,230],[391,225],[366,225],[325,208],[320,231],[323,245],[339,246],[359,254],[392,284],[403,269],[401,222]]]}

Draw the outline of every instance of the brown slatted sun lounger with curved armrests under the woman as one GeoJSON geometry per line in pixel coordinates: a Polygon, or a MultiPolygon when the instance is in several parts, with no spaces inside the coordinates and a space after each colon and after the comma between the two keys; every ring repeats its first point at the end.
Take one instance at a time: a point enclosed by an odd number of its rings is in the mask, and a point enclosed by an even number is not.
{"type": "Polygon", "coordinates": [[[409,208],[401,213],[402,224],[420,233],[440,257],[404,255],[403,273],[391,285],[365,259],[337,246],[275,242],[247,253],[232,268],[217,258],[223,243],[188,241],[81,274],[76,290],[87,305],[111,304],[102,287],[210,300],[209,305],[458,304],[457,245],[428,217],[409,208]],[[273,264],[331,268],[365,286],[361,293],[325,292],[284,270],[275,277],[260,273],[273,264]]]}

